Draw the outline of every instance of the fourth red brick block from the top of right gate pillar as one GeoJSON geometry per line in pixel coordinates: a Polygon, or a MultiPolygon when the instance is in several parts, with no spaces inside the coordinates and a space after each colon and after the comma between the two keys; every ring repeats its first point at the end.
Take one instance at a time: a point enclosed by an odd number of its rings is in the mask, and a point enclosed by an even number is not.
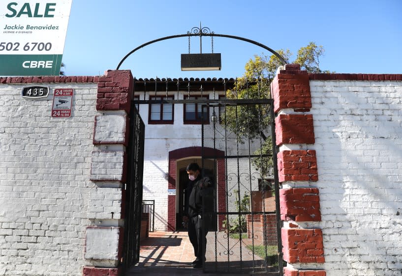
{"type": "Polygon", "coordinates": [[[279,201],[281,220],[321,221],[317,188],[280,189],[279,201]]]}

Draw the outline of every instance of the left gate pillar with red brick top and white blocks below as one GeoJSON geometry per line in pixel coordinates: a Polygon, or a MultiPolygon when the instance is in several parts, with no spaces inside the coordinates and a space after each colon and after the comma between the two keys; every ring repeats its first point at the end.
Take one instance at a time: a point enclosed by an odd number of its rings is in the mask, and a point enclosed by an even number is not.
{"type": "MultiPolygon", "coordinates": [[[[98,79],[91,161],[94,183],[88,205],[92,225],[86,229],[83,276],[121,275],[123,257],[129,115],[133,77],[128,70],[109,70],[98,79]]],[[[140,218],[138,218],[140,219],[140,218]]]]}

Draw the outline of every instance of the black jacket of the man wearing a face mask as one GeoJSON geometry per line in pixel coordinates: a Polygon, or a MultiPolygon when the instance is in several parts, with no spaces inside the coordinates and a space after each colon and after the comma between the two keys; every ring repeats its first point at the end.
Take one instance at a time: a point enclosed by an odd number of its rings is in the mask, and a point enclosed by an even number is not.
{"type": "Polygon", "coordinates": [[[204,196],[205,210],[209,207],[213,207],[213,201],[211,196],[213,195],[213,184],[209,177],[200,177],[194,180],[194,186],[188,196],[188,216],[194,217],[202,213],[202,198],[204,196]]]}

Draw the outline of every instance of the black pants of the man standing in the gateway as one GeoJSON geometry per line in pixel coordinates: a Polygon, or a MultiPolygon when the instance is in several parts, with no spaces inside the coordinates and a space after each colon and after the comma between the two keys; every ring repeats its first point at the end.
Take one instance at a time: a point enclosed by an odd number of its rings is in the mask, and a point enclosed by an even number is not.
{"type": "Polygon", "coordinates": [[[208,232],[202,230],[202,224],[201,216],[192,217],[188,221],[188,238],[194,248],[195,260],[199,263],[204,262],[207,247],[208,232]]]}

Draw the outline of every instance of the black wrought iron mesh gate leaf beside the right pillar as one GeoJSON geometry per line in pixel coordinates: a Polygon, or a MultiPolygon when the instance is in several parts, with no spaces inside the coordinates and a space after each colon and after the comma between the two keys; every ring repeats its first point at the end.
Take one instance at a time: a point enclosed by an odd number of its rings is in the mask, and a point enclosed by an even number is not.
{"type": "Polygon", "coordinates": [[[214,150],[202,160],[216,165],[204,272],[282,275],[273,100],[209,101],[203,114],[202,148],[214,150]]]}

